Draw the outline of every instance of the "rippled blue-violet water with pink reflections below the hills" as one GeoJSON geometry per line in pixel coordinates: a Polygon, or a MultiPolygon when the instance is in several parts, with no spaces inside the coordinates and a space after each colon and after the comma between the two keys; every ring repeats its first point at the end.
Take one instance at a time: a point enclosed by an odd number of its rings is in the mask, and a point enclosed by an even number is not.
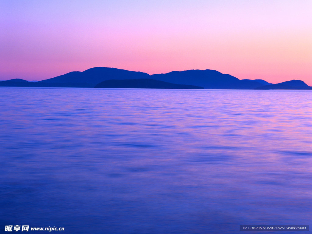
{"type": "Polygon", "coordinates": [[[310,90],[2,87],[0,101],[2,231],[312,224],[310,90]]]}

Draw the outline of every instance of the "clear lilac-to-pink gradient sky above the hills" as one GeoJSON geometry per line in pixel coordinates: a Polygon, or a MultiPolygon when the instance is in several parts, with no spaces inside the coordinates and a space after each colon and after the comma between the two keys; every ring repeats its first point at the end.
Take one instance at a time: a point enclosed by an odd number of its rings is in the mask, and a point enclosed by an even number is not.
{"type": "Polygon", "coordinates": [[[91,67],[312,85],[311,0],[0,0],[0,80],[91,67]]]}

